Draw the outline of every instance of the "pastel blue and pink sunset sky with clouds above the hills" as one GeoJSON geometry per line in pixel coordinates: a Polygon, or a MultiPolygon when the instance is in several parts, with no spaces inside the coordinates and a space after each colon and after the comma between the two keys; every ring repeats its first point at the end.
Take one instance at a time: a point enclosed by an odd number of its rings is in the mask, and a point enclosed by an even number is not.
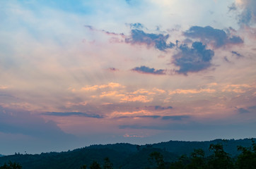
{"type": "Polygon", "coordinates": [[[0,6],[0,154],[256,137],[255,0],[0,6]]]}

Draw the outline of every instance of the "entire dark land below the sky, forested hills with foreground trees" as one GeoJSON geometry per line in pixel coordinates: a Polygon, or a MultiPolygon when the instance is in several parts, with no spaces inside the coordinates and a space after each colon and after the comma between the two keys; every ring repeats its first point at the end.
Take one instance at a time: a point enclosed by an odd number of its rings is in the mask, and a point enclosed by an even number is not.
{"type": "Polygon", "coordinates": [[[0,157],[0,169],[256,169],[255,139],[93,145],[74,151],[0,157]],[[11,162],[12,161],[12,162],[11,162]]]}

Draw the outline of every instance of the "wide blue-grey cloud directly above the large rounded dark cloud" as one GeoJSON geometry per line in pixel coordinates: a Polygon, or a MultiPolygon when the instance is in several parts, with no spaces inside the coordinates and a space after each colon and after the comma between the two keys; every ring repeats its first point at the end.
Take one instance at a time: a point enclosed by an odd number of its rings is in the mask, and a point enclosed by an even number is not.
{"type": "Polygon", "coordinates": [[[204,44],[212,44],[214,48],[219,48],[227,44],[243,44],[243,39],[238,36],[228,35],[225,31],[214,29],[213,27],[192,26],[184,32],[186,37],[200,39],[204,44]]]}

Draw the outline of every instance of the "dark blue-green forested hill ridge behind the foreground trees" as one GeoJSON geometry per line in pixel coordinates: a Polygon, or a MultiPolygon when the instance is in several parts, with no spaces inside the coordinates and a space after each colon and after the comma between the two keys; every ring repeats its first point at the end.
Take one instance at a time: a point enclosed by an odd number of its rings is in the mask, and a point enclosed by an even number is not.
{"type": "MultiPolygon", "coordinates": [[[[255,139],[254,139],[255,140],[255,139]]],[[[92,145],[81,149],[66,152],[50,152],[42,154],[15,154],[11,156],[0,157],[0,166],[8,161],[20,163],[23,169],[30,168],[80,168],[81,165],[90,166],[93,161],[97,161],[103,166],[104,159],[107,157],[113,164],[114,168],[150,168],[150,154],[158,152],[163,156],[165,163],[173,163],[178,161],[182,154],[190,156],[194,149],[202,149],[206,156],[213,154],[209,151],[211,144],[223,145],[223,150],[226,151],[232,158],[236,158],[241,152],[238,151],[238,146],[252,146],[252,139],[216,139],[209,142],[181,142],[170,141],[161,142],[158,144],[106,144],[92,145]]],[[[89,167],[87,167],[89,168],[89,167]]]]}

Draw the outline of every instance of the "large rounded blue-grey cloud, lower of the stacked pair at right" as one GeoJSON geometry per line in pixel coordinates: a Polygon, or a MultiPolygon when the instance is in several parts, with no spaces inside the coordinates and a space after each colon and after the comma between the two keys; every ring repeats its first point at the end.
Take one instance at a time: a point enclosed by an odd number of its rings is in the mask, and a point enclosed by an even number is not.
{"type": "Polygon", "coordinates": [[[178,50],[178,54],[173,56],[173,63],[180,67],[176,70],[177,73],[187,75],[189,72],[199,72],[211,67],[214,51],[206,49],[206,45],[202,42],[194,42],[191,48],[186,44],[181,44],[178,50]]]}

